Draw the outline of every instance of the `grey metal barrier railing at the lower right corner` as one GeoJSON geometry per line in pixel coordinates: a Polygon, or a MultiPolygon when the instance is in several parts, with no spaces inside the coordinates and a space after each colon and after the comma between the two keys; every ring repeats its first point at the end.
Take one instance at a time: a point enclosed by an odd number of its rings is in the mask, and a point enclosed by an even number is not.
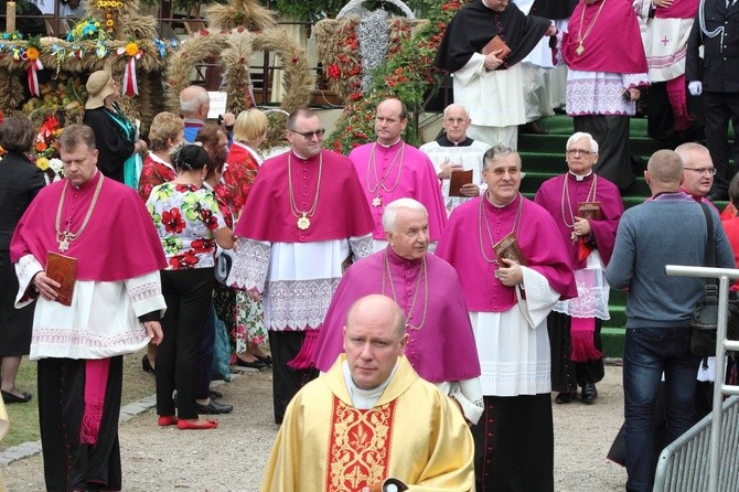
{"type": "Polygon", "coordinates": [[[667,265],[665,270],[673,276],[718,279],[716,377],[714,410],[663,450],[654,491],[739,491],[739,398],[722,404],[724,395],[739,395],[739,386],[725,384],[726,352],[739,351],[739,342],[727,340],[729,280],[739,279],[739,269],[667,265]]]}

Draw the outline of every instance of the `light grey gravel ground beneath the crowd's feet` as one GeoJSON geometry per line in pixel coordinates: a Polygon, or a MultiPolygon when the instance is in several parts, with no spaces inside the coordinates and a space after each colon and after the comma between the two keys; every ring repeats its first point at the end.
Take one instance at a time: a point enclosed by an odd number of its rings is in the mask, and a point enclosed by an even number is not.
{"type": "MultiPolygon", "coordinates": [[[[150,377],[141,375],[141,377],[150,377]]],[[[153,396],[129,406],[120,425],[125,491],[257,491],[277,426],[272,423],[271,372],[250,372],[218,387],[235,410],[214,430],[160,428],[153,396]],[[144,409],[149,408],[149,409],[144,409]]],[[[621,426],[621,367],[609,365],[599,398],[554,405],[557,492],[620,491],[623,468],[606,459],[621,426]]],[[[11,424],[12,425],[12,424],[11,424]]],[[[31,445],[33,448],[33,445],[31,445]]],[[[0,463],[12,450],[0,456],[0,463]]],[[[0,467],[9,492],[44,489],[40,454],[0,467]]],[[[313,491],[307,491],[313,492],[313,491]]]]}

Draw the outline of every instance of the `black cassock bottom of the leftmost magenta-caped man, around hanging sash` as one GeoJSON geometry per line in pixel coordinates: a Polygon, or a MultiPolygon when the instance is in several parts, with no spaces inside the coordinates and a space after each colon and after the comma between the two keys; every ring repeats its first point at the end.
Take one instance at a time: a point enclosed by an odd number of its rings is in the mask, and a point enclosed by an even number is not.
{"type": "Polygon", "coordinates": [[[121,490],[118,416],[124,357],[110,359],[95,446],[79,442],[85,413],[85,360],[39,360],[39,419],[46,490],[121,490]],[[103,486],[105,485],[105,486],[103,486]]]}

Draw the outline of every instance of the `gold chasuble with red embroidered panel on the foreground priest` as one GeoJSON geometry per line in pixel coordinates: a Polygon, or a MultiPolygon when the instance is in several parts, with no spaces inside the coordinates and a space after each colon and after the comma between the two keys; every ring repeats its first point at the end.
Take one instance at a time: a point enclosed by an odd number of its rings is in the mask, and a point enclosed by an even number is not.
{"type": "Polygon", "coordinates": [[[356,492],[389,477],[411,491],[469,492],[472,435],[461,411],[405,356],[374,408],[352,406],[342,354],[292,399],[261,491],[356,492]]]}

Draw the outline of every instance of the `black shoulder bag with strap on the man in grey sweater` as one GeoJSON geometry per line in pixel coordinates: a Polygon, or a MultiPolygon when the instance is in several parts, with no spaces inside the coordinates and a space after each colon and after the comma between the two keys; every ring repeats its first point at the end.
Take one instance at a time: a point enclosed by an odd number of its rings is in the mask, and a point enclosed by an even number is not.
{"type": "MultiPolygon", "coordinates": [[[[708,240],[706,244],[705,266],[716,266],[716,246],[714,244],[714,221],[708,205],[701,203],[706,215],[708,240]]],[[[716,333],[718,331],[718,279],[706,279],[706,295],[693,310],[690,317],[690,353],[698,357],[716,355],[716,333]]],[[[727,338],[739,339],[739,298],[731,295],[728,303],[727,338]]]]}

